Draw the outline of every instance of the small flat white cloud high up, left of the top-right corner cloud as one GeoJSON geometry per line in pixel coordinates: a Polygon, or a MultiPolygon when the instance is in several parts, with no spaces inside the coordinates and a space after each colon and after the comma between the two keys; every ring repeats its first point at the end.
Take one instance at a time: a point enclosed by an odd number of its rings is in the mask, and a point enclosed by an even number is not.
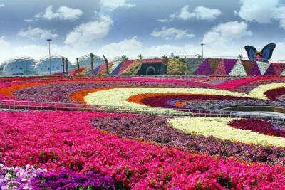
{"type": "Polygon", "coordinates": [[[197,6],[192,12],[189,12],[189,6],[182,7],[179,14],[171,14],[170,18],[180,18],[183,20],[187,19],[197,19],[197,20],[214,20],[217,16],[222,14],[219,9],[209,9],[204,6],[197,6]]]}

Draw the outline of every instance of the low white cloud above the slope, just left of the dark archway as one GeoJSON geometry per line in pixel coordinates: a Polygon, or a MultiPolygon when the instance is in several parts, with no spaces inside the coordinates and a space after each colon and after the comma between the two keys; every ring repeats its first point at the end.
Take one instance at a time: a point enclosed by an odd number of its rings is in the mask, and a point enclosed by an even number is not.
{"type": "Polygon", "coordinates": [[[123,54],[133,56],[140,53],[141,47],[142,43],[137,40],[137,36],[134,36],[133,38],[125,39],[124,41],[120,41],[118,43],[104,45],[100,48],[99,52],[110,57],[121,56],[123,54]]]}

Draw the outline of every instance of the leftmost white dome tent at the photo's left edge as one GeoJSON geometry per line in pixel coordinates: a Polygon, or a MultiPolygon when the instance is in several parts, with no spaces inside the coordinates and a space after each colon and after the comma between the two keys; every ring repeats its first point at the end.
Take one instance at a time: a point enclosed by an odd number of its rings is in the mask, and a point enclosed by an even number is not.
{"type": "Polygon", "coordinates": [[[6,60],[1,65],[4,65],[4,75],[33,75],[33,66],[36,65],[36,62],[29,56],[16,56],[6,60]]]}

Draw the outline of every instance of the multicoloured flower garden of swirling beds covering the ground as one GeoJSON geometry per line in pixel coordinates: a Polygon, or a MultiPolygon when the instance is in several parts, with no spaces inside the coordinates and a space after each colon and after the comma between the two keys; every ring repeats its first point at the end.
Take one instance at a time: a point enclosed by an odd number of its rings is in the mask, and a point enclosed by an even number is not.
{"type": "MultiPolygon", "coordinates": [[[[114,64],[111,72],[130,65],[114,64]]],[[[0,189],[284,189],[284,123],[130,110],[191,115],[241,105],[285,109],[284,76],[54,76],[0,82],[0,100],[11,103],[100,108],[1,110],[0,189]],[[124,112],[109,112],[108,106],[124,112]]]]}

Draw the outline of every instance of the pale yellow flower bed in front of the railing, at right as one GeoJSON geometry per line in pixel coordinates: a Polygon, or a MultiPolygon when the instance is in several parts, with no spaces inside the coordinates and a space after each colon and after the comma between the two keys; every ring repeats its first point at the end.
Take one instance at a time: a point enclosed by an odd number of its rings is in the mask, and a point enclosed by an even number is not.
{"type": "Polygon", "coordinates": [[[177,129],[192,134],[202,134],[205,137],[212,135],[219,139],[228,139],[234,142],[285,147],[285,138],[236,129],[227,125],[231,120],[234,120],[234,118],[185,117],[170,119],[169,122],[177,129]]]}

